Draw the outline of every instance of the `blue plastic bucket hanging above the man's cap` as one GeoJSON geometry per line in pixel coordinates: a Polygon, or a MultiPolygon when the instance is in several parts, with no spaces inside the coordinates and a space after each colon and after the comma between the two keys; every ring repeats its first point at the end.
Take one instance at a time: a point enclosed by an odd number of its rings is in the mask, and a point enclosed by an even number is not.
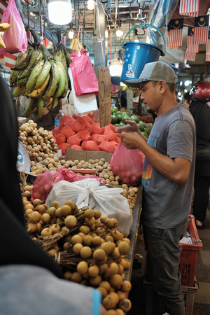
{"type": "MultiPolygon", "coordinates": [[[[147,25],[147,24],[136,25],[132,29],[136,27],[140,27],[140,26],[153,27],[157,29],[153,25],[147,25]]],[[[132,31],[132,29],[130,29],[130,31],[132,31]]],[[[159,29],[157,30],[160,32],[159,29]]],[[[130,31],[127,34],[129,34],[130,31]]],[[[160,34],[162,35],[161,32],[160,34]]],[[[162,35],[162,38],[165,43],[165,38],[163,37],[163,35],[162,35]]],[[[125,38],[124,38],[124,41],[125,41],[125,38]]],[[[156,62],[160,59],[161,55],[162,56],[165,55],[165,52],[163,52],[162,49],[148,43],[128,41],[127,43],[122,45],[122,47],[125,48],[124,57],[123,57],[123,70],[121,74],[121,81],[123,83],[125,83],[125,80],[132,80],[132,79],[139,78],[142,70],[144,69],[145,64],[147,64],[148,62],[156,62]]]]}

